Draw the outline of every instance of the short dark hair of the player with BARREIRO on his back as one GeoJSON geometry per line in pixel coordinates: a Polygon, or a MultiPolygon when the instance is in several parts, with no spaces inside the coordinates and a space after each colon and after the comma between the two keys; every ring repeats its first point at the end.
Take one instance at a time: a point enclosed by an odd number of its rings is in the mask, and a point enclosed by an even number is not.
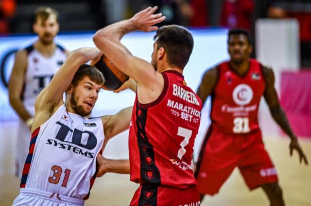
{"type": "Polygon", "coordinates": [[[188,29],[178,25],[163,26],[156,31],[157,49],[163,47],[168,63],[183,69],[193,49],[193,37],[188,29]]]}

